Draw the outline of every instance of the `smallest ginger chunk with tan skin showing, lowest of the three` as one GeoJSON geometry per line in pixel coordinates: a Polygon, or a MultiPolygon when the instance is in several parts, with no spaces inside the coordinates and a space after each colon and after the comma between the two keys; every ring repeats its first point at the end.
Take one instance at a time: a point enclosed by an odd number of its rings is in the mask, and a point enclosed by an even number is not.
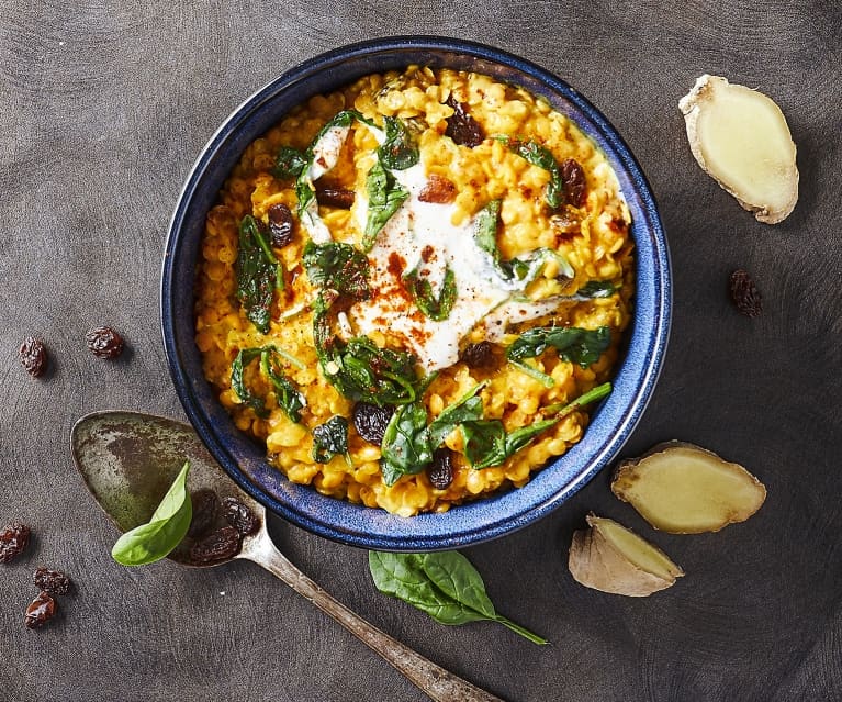
{"type": "Polygon", "coordinates": [[[666,555],[617,522],[590,514],[591,528],[573,534],[568,567],[581,584],[645,598],[675,583],[684,571],[666,555]]]}

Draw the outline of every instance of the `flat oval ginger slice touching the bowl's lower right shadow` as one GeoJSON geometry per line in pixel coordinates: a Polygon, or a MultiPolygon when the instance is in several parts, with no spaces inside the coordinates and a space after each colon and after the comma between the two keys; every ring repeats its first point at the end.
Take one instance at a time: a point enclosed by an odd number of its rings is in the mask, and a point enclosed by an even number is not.
{"type": "Polygon", "coordinates": [[[745,468],[682,442],[621,461],[611,491],[671,534],[718,532],[748,520],[766,499],[766,488],[745,468]]]}

